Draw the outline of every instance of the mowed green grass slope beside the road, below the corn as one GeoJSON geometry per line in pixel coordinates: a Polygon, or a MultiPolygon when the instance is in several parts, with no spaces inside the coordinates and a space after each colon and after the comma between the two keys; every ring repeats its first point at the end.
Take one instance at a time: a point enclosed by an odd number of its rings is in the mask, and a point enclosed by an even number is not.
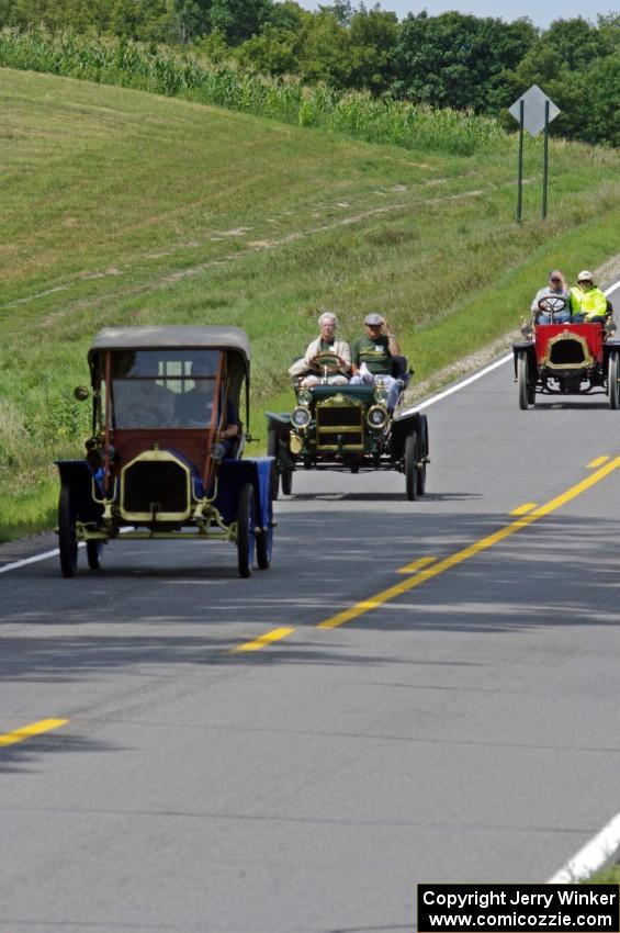
{"type": "Polygon", "coordinates": [[[617,251],[619,156],[515,140],[450,157],[138,91],[0,69],[0,539],[53,524],[54,457],[80,456],[92,335],[219,324],[252,341],[252,432],[335,310],[380,310],[418,376],[514,326],[551,266],[617,251]]]}

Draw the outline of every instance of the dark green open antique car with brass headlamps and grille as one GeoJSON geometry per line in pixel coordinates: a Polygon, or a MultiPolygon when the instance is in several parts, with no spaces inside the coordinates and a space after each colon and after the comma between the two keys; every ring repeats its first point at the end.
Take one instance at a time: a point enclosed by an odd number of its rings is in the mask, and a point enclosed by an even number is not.
{"type": "MultiPolygon", "coordinates": [[[[290,495],[293,472],[306,470],[397,470],[405,474],[408,499],[421,496],[426,486],[429,452],[428,424],[420,412],[394,414],[387,407],[387,387],[381,379],[374,385],[330,385],[328,375],[340,361],[320,360],[323,379],[312,386],[302,379],[293,382],[292,412],[267,413],[268,454],[275,459],[273,496],[290,495]]],[[[405,357],[393,358],[393,375],[399,381],[401,397],[410,380],[405,357]]]]}

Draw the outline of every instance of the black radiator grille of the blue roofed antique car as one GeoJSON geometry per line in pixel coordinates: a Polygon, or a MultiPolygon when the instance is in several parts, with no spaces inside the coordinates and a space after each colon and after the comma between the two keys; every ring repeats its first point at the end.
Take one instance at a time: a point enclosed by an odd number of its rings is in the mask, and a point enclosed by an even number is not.
{"type": "Polygon", "coordinates": [[[137,459],[123,470],[123,518],[179,521],[189,516],[190,507],[189,472],[179,461],[137,459]]]}

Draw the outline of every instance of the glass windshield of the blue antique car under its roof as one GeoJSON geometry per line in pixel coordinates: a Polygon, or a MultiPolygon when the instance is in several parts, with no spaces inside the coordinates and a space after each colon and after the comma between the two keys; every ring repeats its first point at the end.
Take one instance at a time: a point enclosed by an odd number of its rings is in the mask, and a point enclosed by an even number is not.
{"type": "Polygon", "coordinates": [[[112,353],[113,426],[208,427],[219,357],[218,350],[112,353]]]}

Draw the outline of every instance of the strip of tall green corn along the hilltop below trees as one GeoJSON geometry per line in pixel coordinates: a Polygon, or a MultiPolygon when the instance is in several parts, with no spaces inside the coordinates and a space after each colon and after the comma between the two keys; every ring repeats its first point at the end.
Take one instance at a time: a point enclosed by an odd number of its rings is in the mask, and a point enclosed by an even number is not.
{"type": "Polygon", "coordinates": [[[466,156],[495,147],[505,137],[492,117],[308,87],[294,78],[269,79],[165,46],[71,32],[4,29],[0,31],[0,66],[180,97],[408,149],[466,156]]]}

